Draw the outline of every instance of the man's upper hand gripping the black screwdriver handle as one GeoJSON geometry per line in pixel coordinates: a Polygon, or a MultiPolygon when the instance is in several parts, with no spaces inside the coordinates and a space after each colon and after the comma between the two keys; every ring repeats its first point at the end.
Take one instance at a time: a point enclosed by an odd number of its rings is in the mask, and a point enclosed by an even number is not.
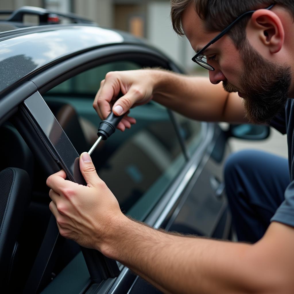
{"type": "Polygon", "coordinates": [[[101,81],[93,107],[101,119],[105,119],[111,110],[116,115],[125,114],[117,128],[124,131],[136,123],[135,118],[128,116],[131,107],[149,102],[153,97],[156,83],[155,72],[152,69],[133,71],[111,71],[101,81]],[[123,96],[116,100],[119,92],[123,96]]]}

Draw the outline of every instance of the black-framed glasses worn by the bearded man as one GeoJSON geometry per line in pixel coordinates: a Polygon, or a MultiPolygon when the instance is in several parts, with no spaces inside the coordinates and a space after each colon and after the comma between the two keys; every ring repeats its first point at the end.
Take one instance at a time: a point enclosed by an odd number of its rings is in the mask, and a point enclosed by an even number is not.
{"type": "MultiPolygon", "coordinates": [[[[273,6],[275,4],[272,4],[270,6],[268,6],[265,9],[272,9],[273,6]]],[[[256,9],[258,10],[258,9],[256,9]]],[[[248,15],[248,14],[252,14],[253,12],[255,12],[256,10],[250,10],[247,11],[245,13],[243,13],[242,15],[240,15],[238,18],[236,18],[231,24],[229,24],[223,31],[220,32],[220,34],[218,34],[214,39],[212,39],[206,46],[204,46],[200,51],[198,51],[192,58],[192,60],[194,62],[196,62],[197,64],[201,65],[202,67],[204,67],[205,69],[208,69],[210,71],[214,71],[214,68],[209,65],[206,61],[207,58],[204,54],[202,54],[202,52],[204,52],[211,44],[215,43],[217,40],[219,40],[222,36],[224,36],[231,28],[232,26],[238,21],[240,20],[243,16],[248,15]]]]}

